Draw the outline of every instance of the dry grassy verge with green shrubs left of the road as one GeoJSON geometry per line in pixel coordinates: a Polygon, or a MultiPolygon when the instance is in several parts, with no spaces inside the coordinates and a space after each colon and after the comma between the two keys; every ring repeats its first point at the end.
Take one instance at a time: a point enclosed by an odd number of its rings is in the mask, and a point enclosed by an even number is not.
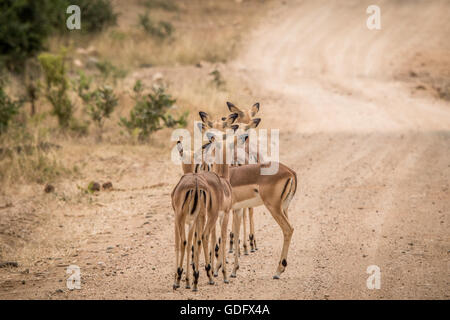
{"type": "Polygon", "coordinates": [[[165,128],[184,127],[199,108],[223,104],[233,81],[217,65],[236,56],[242,31],[264,5],[3,1],[0,195],[21,183],[79,176],[67,156],[76,145],[167,149],[165,128]],[[66,27],[69,5],[81,9],[81,30],[66,27]]]}

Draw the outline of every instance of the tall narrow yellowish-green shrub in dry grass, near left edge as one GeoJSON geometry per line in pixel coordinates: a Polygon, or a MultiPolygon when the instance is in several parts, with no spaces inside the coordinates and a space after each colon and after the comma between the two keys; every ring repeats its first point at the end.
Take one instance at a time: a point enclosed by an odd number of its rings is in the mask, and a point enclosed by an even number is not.
{"type": "Polygon", "coordinates": [[[45,76],[45,96],[51,103],[52,114],[61,128],[70,127],[74,106],[69,98],[69,80],[65,68],[65,52],[54,55],[43,53],[38,57],[45,76]]]}

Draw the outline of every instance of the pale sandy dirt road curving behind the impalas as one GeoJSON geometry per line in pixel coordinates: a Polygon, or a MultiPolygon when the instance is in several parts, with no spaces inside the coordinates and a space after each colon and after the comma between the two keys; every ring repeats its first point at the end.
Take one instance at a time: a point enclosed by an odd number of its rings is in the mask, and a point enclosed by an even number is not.
{"type": "Polygon", "coordinates": [[[450,52],[449,2],[381,2],[372,31],[370,2],[284,3],[228,72],[261,102],[263,127],[280,128],[280,159],[298,175],[281,280],[281,230],[257,208],[259,250],[241,256],[236,279],[210,286],[203,274],[199,292],[172,291],[180,170],[168,155],[136,155],[118,182],[125,191],[83,211],[52,208],[54,229],[42,232],[63,235],[73,254],[14,275],[0,298],[449,298],[450,104],[403,77],[411,60],[450,52]],[[77,238],[59,224],[77,225],[77,238]],[[81,290],[66,289],[68,264],[80,266],[81,290]],[[380,267],[379,290],[366,287],[369,265],[380,267]]]}

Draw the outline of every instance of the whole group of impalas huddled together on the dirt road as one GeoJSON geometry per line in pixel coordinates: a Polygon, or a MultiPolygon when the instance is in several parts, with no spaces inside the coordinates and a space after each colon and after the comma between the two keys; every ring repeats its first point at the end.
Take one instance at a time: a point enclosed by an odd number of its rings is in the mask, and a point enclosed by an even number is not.
{"type": "Polygon", "coordinates": [[[282,163],[266,161],[260,152],[254,152],[249,131],[255,129],[261,119],[255,118],[259,103],[242,111],[227,102],[230,114],[220,120],[206,112],[200,112],[199,129],[208,142],[192,152],[181,141],[177,149],[182,160],[183,176],[172,191],[172,207],[175,212],[175,281],[180,287],[183,262],[186,255],[186,288],[198,290],[199,260],[204,252],[204,263],[209,284],[214,284],[222,269],[223,280],[228,283],[226,264],[227,228],[230,211],[233,212],[230,252],[234,252],[231,277],[239,269],[239,234],[244,218],[244,254],[247,248],[247,210],[250,224],[248,237],[251,251],[257,250],[254,232],[253,208],[264,205],[283,232],[283,248],[274,279],[279,279],[287,266],[287,254],[294,228],[288,219],[289,203],[297,190],[296,173],[282,163]],[[243,150],[243,152],[239,152],[243,150]],[[200,156],[200,160],[198,160],[200,156]],[[264,169],[276,165],[274,174],[262,174],[264,169]],[[219,223],[220,236],[216,238],[219,223]],[[186,237],[187,227],[187,237],[186,237]],[[211,238],[211,242],[210,242],[211,238]],[[214,260],[217,258],[216,264],[214,260]],[[192,262],[191,262],[192,259],[192,262]]]}

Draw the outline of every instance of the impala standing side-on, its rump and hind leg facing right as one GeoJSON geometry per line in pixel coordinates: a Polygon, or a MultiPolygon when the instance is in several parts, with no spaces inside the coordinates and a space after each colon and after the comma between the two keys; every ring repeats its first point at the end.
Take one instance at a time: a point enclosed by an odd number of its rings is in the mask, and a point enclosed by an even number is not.
{"type": "MultiPolygon", "coordinates": [[[[253,119],[250,127],[255,128],[259,124],[259,122],[260,119],[253,119]]],[[[203,126],[202,128],[206,130],[205,126],[203,126]]],[[[245,128],[248,129],[248,125],[246,125],[245,128]]],[[[237,129],[236,125],[233,129],[237,129]]],[[[222,157],[222,161],[213,163],[213,170],[219,173],[219,175],[221,173],[226,173],[226,175],[229,176],[229,182],[233,189],[233,210],[239,210],[237,211],[239,214],[239,212],[241,212],[243,208],[264,205],[282,229],[283,248],[276,273],[273,276],[274,279],[279,279],[281,273],[284,272],[287,266],[287,254],[292,238],[292,233],[294,231],[294,228],[292,227],[288,219],[288,207],[297,190],[297,175],[293,170],[283,165],[282,163],[277,163],[278,171],[273,175],[261,174],[261,171],[264,168],[272,167],[271,162],[230,167],[230,165],[223,160],[226,159],[226,152],[233,153],[235,149],[234,146],[230,146],[225,143],[224,138],[226,138],[226,135],[221,132],[210,133],[210,142],[205,145],[208,147],[208,149],[210,149],[210,145],[216,144],[217,146],[219,146],[219,150],[221,150],[222,152],[222,154],[219,154],[219,157],[222,157]]],[[[239,139],[246,141],[248,139],[248,134],[241,135],[239,139]]],[[[181,143],[178,143],[177,145],[181,146],[181,143]]],[[[212,148],[214,152],[215,149],[216,148],[212,148]]],[[[180,148],[178,150],[180,151],[180,148]]],[[[194,165],[183,165],[183,170],[193,169],[194,165]]],[[[237,232],[239,228],[240,219],[236,219],[236,223],[233,224],[233,232],[237,236],[237,239],[234,242],[235,263],[233,272],[231,274],[232,277],[236,277],[236,272],[239,269],[239,232],[237,232]]],[[[226,230],[226,226],[224,227],[224,224],[222,224],[222,243],[226,243],[226,234],[223,234],[224,229],[226,230]]],[[[220,250],[220,257],[217,262],[215,270],[216,274],[221,267],[225,266],[225,245],[220,247],[222,250],[220,250]]]]}

